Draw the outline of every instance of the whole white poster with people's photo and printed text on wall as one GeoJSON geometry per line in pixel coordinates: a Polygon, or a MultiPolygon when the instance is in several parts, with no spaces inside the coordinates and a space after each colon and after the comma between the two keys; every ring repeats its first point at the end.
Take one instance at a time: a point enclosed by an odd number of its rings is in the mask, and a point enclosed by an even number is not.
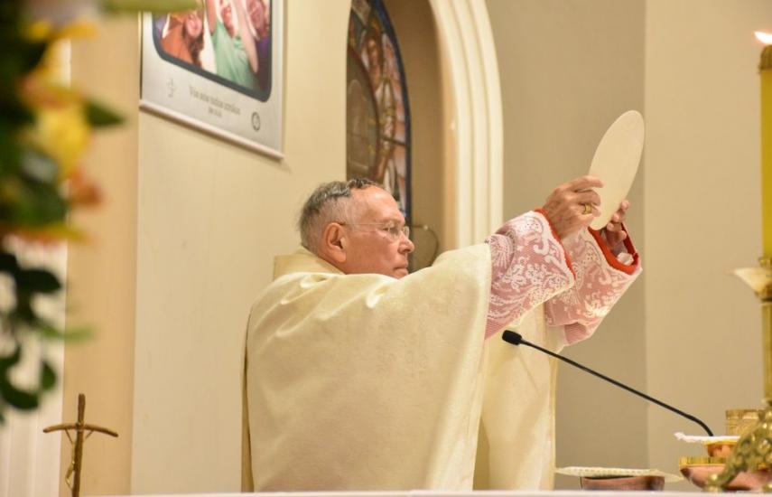
{"type": "Polygon", "coordinates": [[[284,0],[202,0],[144,14],[140,108],[276,158],[284,0]]]}

